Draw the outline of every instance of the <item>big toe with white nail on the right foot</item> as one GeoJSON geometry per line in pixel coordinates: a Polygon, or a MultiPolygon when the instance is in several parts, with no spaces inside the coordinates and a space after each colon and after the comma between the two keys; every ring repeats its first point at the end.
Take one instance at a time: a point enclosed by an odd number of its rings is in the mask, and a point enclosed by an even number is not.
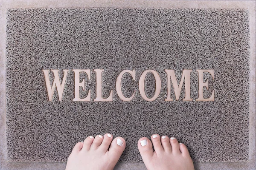
{"type": "Polygon", "coordinates": [[[154,151],[152,143],[147,137],[140,138],[138,141],[138,149],[144,163],[151,161],[154,151]]]}

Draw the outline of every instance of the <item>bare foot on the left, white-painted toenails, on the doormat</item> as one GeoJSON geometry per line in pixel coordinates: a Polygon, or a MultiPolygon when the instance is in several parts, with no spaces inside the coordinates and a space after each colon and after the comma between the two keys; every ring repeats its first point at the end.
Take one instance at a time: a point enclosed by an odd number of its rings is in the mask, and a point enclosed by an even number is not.
{"type": "Polygon", "coordinates": [[[107,133],[95,139],[89,136],[77,143],[67,160],[66,170],[113,170],[125,150],[125,139],[112,139],[107,133]]]}

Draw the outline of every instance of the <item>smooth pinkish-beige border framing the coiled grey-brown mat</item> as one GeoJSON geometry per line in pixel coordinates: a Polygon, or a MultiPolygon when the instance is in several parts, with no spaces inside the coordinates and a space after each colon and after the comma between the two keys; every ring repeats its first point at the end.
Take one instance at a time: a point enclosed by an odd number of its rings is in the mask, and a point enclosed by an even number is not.
{"type": "MultiPolygon", "coordinates": [[[[250,154],[248,162],[196,163],[198,170],[256,169],[256,1],[174,0],[0,0],[0,170],[63,170],[65,163],[6,161],[5,23],[6,8],[121,7],[121,8],[249,8],[250,9],[250,154]]],[[[143,170],[142,163],[120,163],[116,169],[143,170]]]]}

